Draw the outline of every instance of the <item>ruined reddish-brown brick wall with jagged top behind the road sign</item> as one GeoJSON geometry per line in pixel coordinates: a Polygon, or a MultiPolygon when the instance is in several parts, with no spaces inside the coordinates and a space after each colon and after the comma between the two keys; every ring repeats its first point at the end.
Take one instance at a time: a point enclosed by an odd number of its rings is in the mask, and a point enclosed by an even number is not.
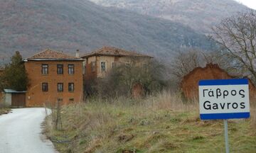
{"type": "MultiPolygon", "coordinates": [[[[198,98],[198,81],[201,79],[234,79],[218,64],[206,64],[206,67],[196,67],[190,73],[183,77],[181,81],[181,90],[188,99],[198,98]]],[[[256,100],[256,88],[249,79],[250,99],[256,100]]]]}

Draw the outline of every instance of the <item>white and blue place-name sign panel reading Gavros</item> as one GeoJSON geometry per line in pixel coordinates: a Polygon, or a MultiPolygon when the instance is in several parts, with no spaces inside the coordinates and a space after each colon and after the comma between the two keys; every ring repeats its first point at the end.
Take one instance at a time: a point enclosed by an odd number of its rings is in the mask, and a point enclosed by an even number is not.
{"type": "Polygon", "coordinates": [[[199,81],[199,106],[202,120],[249,118],[248,80],[199,81]]]}

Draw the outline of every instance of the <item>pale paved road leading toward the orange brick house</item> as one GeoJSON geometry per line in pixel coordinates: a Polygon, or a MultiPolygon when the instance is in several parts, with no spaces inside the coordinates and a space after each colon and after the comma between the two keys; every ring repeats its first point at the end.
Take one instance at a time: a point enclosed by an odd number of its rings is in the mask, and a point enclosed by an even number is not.
{"type": "Polygon", "coordinates": [[[56,153],[41,134],[45,116],[44,108],[13,109],[0,115],[0,153],[56,153]]]}

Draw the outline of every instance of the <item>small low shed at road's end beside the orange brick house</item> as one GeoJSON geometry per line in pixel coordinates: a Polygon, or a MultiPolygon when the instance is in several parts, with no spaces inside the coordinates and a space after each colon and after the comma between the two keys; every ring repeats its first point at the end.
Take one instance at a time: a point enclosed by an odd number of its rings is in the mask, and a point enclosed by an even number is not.
{"type": "Polygon", "coordinates": [[[26,106],[26,91],[15,91],[12,89],[4,89],[4,104],[11,107],[26,106]]]}

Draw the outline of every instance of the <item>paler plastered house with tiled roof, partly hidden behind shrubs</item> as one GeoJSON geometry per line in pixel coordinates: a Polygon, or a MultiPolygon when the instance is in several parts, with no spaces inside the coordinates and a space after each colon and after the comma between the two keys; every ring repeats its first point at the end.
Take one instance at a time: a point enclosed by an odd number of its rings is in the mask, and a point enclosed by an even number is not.
{"type": "Polygon", "coordinates": [[[82,56],[85,60],[85,80],[105,77],[107,72],[119,64],[143,66],[151,56],[122,50],[117,47],[102,47],[82,56]]]}

